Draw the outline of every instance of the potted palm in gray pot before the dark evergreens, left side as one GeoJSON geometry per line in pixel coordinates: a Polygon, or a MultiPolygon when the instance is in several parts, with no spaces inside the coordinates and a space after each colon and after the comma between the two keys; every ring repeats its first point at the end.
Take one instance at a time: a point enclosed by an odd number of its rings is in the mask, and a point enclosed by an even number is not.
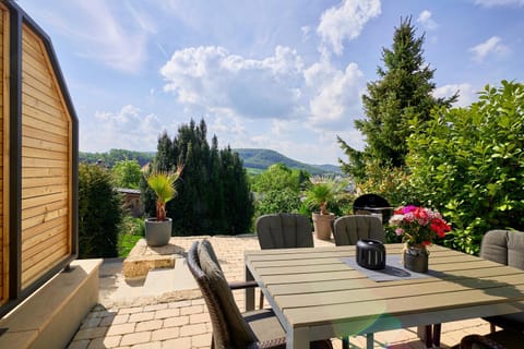
{"type": "Polygon", "coordinates": [[[154,170],[145,180],[156,195],[156,217],[145,219],[145,241],[150,246],[162,246],[171,238],[171,218],[166,215],[166,204],[177,196],[176,182],[182,173],[183,166],[176,171],[154,170]]]}

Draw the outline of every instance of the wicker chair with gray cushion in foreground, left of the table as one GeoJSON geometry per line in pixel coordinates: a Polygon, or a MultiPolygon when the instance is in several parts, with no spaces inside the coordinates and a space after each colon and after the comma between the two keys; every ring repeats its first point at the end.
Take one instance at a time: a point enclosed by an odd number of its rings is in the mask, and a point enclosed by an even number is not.
{"type": "MultiPolygon", "coordinates": [[[[191,245],[188,266],[210,312],[212,349],[285,348],[284,329],[271,309],[240,313],[207,240],[195,241],[191,245]]],[[[331,340],[313,341],[310,347],[332,349],[331,340]]]]}

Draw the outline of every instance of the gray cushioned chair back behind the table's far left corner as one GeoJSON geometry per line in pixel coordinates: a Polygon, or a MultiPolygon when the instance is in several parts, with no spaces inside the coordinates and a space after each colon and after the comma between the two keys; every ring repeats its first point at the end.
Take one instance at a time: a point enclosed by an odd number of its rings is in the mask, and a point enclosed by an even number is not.
{"type": "Polygon", "coordinates": [[[303,215],[262,215],[254,226],[262,250],[313,248],[311,222],[303,215]]]}

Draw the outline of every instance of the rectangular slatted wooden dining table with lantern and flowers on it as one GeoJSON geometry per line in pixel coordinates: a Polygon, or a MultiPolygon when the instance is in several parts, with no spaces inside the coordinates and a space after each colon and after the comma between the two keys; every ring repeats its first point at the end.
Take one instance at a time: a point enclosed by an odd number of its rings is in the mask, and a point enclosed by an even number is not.
{"type": "MultiPolygon", "coordinates": [[[[403,245],[385,251],[389,265],[403,245]]],[[[354,245],[246,251],[246,279],[258,282],[295,349],[368,334],[372,348],[378,332],[524,311],[524,270],[440,245],[429,251],[426,277],[386,281],[344,262],[355,258],[354,245]]],[[[247,289],[252,309],[254,290],[247,289]]]]}

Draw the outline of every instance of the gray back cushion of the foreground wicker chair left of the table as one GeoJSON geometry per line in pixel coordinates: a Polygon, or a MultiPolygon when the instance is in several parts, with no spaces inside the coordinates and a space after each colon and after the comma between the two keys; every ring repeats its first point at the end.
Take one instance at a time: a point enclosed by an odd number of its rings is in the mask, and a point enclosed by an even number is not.
{"type": "Polygon", "coordinates": [[[216,261],[216,254],[211,243],[199,244],[199,261],[202,272],[206,275],[210,288],[217,297],[219,308],[229,332],[230,345],[233,348],[243,348],[249,344],[257,341],[253,333],[246,324],[240,311],[238,310],[233,292],[229,289],[224,274],[216,261]]]}

